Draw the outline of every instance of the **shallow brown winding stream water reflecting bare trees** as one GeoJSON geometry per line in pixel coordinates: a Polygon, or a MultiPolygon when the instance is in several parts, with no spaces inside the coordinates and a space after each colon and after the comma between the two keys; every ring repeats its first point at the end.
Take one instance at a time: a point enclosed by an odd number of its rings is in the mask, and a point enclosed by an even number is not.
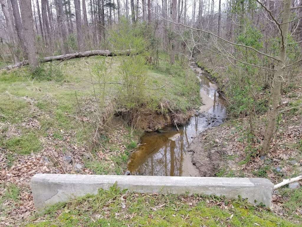
{"type": "Polygon", "coordinates": [[[179,132],[175,127],[165,127],[164,133],[146,133],[141,138],[142,145],[132,153],[128,162],[132,175],[198,176],[197,169],[191,163],[188,146],[200,132],[222,123],[225,106],[216,85],[200,74],[203,72],[201,69],[196,69],[196,72],[200,78],[201,97],[206,94],[211,99],[208,110],[191,117],[186,125],[178,127],[179,132]]]}

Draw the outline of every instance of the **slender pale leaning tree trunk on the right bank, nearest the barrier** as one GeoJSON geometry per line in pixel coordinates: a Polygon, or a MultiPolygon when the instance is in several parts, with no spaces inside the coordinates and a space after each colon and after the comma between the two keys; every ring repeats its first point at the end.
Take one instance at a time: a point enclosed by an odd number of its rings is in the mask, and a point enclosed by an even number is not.
{"type": "Polygon", "coordinates": [[[281,31],[283,34],[283,41],[281,41],[280,46],[280,54],[279,54],[279,61],[275,64],[275,72],[272,88],[271,88],[271,103],[270,109],[267,114],[268,125],[265,130],[265,136],[262,144],[262,150],[260,151],[261,156],[265,156],[270,148],[271,140],[275,131],[276,119],[278,115],[278,108],[279,108],[279,99],[281,93],[281,84],[284,80],[284,68],[285,68],[285,61],[286,61],[286,46],[288,42],[288,30],[289,30],[289,23],[291,15],[291,0],[284,0],[284,11],[282,15],[282,27],[281,31]]]}

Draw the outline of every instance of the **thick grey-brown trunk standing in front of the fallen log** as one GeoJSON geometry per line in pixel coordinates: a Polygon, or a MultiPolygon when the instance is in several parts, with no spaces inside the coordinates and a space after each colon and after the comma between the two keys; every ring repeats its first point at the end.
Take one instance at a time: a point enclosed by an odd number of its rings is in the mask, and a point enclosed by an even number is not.
{"type": "Polygon", "coordinates": [[[24,18],[23,28],[27,45],[28,62],[32,70],[35,70],[37,67],[39,67],[39,58],[34,34],[34,23],[31,12],[31,0],[20,1],[20,10],[21,15],[24,18]]]}

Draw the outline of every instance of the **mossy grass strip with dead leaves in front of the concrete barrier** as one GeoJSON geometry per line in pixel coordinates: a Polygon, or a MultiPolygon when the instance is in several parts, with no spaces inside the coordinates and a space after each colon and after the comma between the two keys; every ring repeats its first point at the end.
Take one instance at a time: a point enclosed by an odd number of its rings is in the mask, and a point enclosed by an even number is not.
{"type": "Polygon", "coordinates": [[[298,226],[243,200],[124,193],[116,186],[100,189],[95,196],[55,205],[25,226],[298,226]]]}

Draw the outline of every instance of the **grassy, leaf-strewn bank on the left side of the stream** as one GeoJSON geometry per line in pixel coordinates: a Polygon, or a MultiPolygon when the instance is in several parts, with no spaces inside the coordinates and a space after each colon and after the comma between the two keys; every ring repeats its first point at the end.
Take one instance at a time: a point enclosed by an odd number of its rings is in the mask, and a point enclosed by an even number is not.
{"type": "MultiPolygon", "coordinates": [[[[170,67],[168,59],[162,54],[159,67],[145,65],[145,112],[184,113],[200,103],[194,73],[170,67]]],[[[128,108],[120,101],[125,86],[115,83],[123,81],[122,60],[44,63],[34,74],[27,67],[1,71],[1,224],[14,223],[20,213],[26,218],[33,210],[29,180],[35,173],[123,174],[143,132],[114,117],[128,108]],[[105,77],[96,73],[102,68],[105,77]]]]}

